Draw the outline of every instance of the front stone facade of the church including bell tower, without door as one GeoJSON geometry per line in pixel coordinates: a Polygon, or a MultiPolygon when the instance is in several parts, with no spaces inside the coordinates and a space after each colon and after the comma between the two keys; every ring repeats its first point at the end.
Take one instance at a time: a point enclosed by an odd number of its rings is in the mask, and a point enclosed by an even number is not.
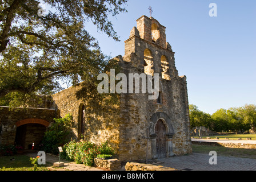
{"type": "MultiPolygon", "coordinates": [[[[145,72],[145,59],[153,61],[153,73],[159,74],[162,104],[149,100],[149,94],[121,94],[120,96],[120,155],[121,159],[137,160],[157,158],[155,155],[154,127],[158,119],[166,126],[167,156],[191,153],[189,105],[187,99],[186,76],[179,77],[175,68],[174,52],[169,43],[165,47],[161,42],[151,39],[151,24],[157,23],[153,18],[142,16],[137,20],[137,27],[125,41],[125,56],[119,60],[121,72],[128,77],[129,73],[145,72]],[[150,36],[149,36],[150,35],[150,36]],[[162,56],[169,63],[166,75],[162,77],[162,56]],[[145,58],[146,57],[146,58],[145,58]],[[153,117],[156,115],[155,117],[153,117]],[[148,142],[147,143],[147,139],[148,142]]],[[[158,27],[162,27],[158,24],[158,27]]],[[[160,31],[160,40],[165,39],[165,31],[160,31]]],[[[166,66],[166,65],[165,65],[166,66]]]]}

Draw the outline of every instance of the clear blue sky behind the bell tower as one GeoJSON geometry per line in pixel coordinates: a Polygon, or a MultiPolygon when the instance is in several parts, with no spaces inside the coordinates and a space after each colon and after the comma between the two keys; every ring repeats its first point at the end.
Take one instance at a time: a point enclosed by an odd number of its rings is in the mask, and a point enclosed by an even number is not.
{"type": "Polygon", "coordinates": [[[150,16],[149,6],[166,27],[179,75],[187,76],[189,104],[209,114],[256,104],[256,1],[130,0],[128,13],[110,17],[121,42],[87,29],[103,53],[123,56],[124,41],[139,17],[150,16]],[[217,17],[209,16],[210,3],[217,4],[217,17]]]}

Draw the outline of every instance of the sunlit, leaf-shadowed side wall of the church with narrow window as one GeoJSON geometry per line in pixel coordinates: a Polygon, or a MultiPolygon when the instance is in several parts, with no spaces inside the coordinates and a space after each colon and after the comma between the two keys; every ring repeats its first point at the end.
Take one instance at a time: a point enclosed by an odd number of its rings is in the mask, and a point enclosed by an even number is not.
{"type": "MultiPolygon", "coordinates": [[[[84,139],[96,144],[108,140],[116,150],[119,144],[119,100],[117,94],[103,94],[99,100],[93,93],[85,90],[85,82],[63,90],[53,97],[53,108],[58,110],[60,117],[72,114],[73,139],[81,139],[81,108],[85,106],[83,125],[85,127],[84,139]],[[89,96],[88,96],[89,95],[89,96]]],[[[94,90],[95,91],[95,90],[94,90]]],[[[97,90],[96,90],[97,91],[97,90]]]]}

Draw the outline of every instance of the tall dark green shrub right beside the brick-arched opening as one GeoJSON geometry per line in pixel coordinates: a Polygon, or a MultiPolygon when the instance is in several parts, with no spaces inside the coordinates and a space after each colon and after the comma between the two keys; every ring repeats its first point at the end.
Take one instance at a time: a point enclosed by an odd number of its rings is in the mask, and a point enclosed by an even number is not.
{"type": "Polygon", "coordinates": [[[67,114],[64,118],[54,119],[54,121],[43,137],[41,150],[47,153],[58,154],[58,147],[63,146],[69,141],[67,137],[70,134],[73,117],[67,114]]]}

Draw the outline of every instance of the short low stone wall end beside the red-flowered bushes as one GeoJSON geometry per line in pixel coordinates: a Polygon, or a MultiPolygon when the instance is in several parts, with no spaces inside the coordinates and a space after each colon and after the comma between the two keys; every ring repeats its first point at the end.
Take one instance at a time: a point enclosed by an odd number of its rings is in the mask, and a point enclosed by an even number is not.
{"type": "Polygon", "coordinates": [[[95,166],[116,171],[121,169],[121,160],[118,159],[94,159],[95,166]]]}

